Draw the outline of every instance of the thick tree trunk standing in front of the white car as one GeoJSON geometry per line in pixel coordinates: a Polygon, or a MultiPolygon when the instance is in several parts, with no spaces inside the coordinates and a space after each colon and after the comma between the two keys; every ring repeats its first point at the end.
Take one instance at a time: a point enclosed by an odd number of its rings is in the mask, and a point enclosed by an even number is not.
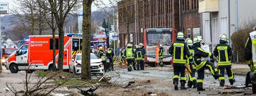
{"type": "Polygon", "coordinates": [[[81,79],[91,80],[90,47],[91,47],[91,6],[92,0],[83,0],[83,45],[81,79]]]}

